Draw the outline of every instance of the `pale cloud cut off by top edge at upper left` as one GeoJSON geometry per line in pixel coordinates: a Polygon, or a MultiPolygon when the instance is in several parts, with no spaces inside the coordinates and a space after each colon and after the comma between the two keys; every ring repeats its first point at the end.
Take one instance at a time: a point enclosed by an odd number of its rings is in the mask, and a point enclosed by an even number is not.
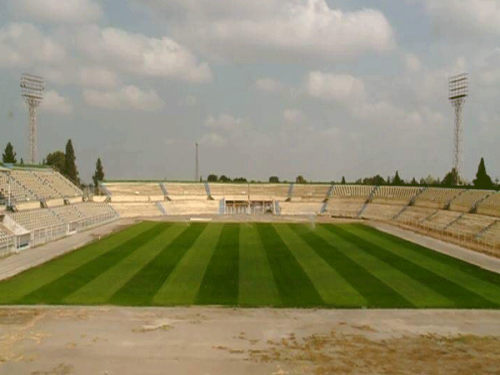
{"type": "Polygon", "coordinates": [[[102,16],[102,9],[91,0],[10,0],[18,11],[54,23],[88,23],[102,16]]]}

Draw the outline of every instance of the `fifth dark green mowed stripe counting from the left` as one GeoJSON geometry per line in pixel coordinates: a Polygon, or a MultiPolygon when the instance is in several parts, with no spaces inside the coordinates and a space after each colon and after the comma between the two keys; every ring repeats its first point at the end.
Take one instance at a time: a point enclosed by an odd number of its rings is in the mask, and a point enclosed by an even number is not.
{"type": "Polygon", "coordinates": [[[354,245],[324,237],[328,232],[322,232],[320,226],[315,231],[300,224],[290,224],[290,228],[363,296],[368,307],[414,307],[401,293],[387,285],[383,274],[372,268],[371,259],[354,245]]]}

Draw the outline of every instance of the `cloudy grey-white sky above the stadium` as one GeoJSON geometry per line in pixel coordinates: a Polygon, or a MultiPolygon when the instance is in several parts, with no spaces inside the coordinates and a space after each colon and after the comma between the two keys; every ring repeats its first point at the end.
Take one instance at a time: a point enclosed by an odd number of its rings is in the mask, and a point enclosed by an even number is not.
{"type": "Polygon", "coordinates": [[[498,0],[4,0],[0,148],[28,159],[22,72],[42,75],[39,157],[85,181],[201,173],[348,180],[451,168],[447,80],[466,71],[463,174],[500,177],[498,0]]]}

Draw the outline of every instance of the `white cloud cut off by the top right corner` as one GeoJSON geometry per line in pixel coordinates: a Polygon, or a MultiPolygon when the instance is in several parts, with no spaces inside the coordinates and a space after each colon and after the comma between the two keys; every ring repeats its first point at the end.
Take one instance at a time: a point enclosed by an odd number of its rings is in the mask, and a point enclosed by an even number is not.
{"type": "Polygon", "coordinates": [[[500,35],[498,0],[425,0],[425,5],[444,32],[500,35]]]}

